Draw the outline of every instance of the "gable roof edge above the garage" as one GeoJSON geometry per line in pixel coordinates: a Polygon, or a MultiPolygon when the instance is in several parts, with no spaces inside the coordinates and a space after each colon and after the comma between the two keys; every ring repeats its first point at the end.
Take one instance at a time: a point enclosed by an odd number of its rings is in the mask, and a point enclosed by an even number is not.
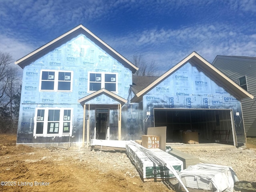
{"type": "Polygon", "coordinates": [[[204,58],[202,58],[199,54],[196,52],[192,52],[190,55],[188,55],[186,58],[184,58],[182,61],[180,61],[178,64],[176,64],[173,68],[162,74],[159,78],[154,80],[152,83],[150,83],[147,87],[143,88],[142,90],[138,92],[134,92],[135,96],[132,98],[131,102],[138,102],[142,99],[142,96],[144,96],[147,92],[152,90],[155,86],[157,86],[160,82],[168,78],[171,74],[176,72],[179,68],[181,68],[184,64],[186,64],[188,61],[192,61],[196,63],[202,70],[204,70],[207,74],[214,77],[214,79],[223,86],[227,90],[230,90],[234,95],[236,95],[238,98],[254,98],[253,95],[251,95],[249,92],[241,88],[238,84],[236,84],[233,80],[228,78],[224,73],[222,73],[220,70],[218,70],[216,67],[214,67],[212,64],[210,64],[208,61],[206,61],[204,58]]]}

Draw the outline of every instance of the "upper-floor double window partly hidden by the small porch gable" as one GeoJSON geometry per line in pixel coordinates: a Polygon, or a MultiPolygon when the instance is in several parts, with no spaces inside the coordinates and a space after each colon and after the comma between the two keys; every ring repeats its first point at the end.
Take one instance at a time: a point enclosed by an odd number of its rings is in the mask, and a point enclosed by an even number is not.
{"type": "Polygon", "coordinates": [[[89,91],[98,91],[102,88],[117,92],[117,74],[89,73],[89,91]]]}

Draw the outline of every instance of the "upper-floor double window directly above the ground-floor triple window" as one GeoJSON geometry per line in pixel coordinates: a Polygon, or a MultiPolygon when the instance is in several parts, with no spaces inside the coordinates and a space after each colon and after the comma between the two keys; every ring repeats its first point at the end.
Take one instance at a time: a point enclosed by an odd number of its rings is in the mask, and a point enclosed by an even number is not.
{"type": "Polygon", "coordinates": [[[71,91],[72,71],[42,70],[40,76],[41,91],[71,91]]]}

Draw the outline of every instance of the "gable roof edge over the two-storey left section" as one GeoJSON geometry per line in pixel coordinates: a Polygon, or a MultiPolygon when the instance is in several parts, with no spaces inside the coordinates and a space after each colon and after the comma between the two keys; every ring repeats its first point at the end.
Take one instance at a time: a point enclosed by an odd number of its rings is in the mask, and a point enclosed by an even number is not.
{"type": "Polygon", "coordinates": [[[130,61],[128,61],[126,58],[124,58],[121,54],[116,52],[112,47],[110,47],[108,44],[106,44],[104,41],[102,41],[98,36],[94,35],[90,30],[88,30],[86,27],[84,27],[82,24],[76,26],[72,30],[64,33],[63,35],[57,37],[56,39],[48,42],[47,44],[41,46],[40,48],[34,50],[33,52],[27,54],[26,56],[20,58],[15,64],[18,64],[21,68],[24,68],[26,65],[30,64],[30,62],[33,62],[34,60],[40,58],[44,54],[50,52],[50,50],[57,48],[58,46],[62,45],[64,42],[67,42],[68,40],[71,40],[74,36],[78,34],[84,34],[90,40],[92,40],[95,44],[97,44],[100,48],[105,50],[108,54],[110,54],[113,58],[118,60],[120,63],[124,64],[128,68],[132,70],[133,73],[138,70],[138,67],[136,67],[134,64],[132,64],[130,61]]]}

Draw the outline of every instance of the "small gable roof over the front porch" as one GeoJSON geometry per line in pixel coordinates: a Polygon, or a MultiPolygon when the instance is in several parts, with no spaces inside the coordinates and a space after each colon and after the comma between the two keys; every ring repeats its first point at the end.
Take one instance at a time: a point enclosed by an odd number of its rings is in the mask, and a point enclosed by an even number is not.
{"type": "Polygon", "coordinates": [[[124,99],[124,98],[118,96],[117,94],[114,94],[114,93],[112,93],[112,92],[110,92],[110,91],[108,91],[108,90],[106,90],[106,89],[104,89],[104,88],[102,88],[102,89],[100,89],[100,90],[98,90],[98,91],[96,91],[96,92],[93,92],[92,94],[87,95],[87,96],[85,96],[85,97],[83,97],[83,98],[80,98],[80,99],[78,100],[78,102],[79,102],[82,106],[84,106],[84,104],[85,104],[86,102],[88,102],[88,101],[90,101],[90,100],[92,100],[92,99],[94,99],[94,98],[96,98],[96,97],[98,97],[98,96],[100,96],[100,95],[102,95],[102,94],[104,94],[104,95],[106,95],[106,96],[108,96],[108,97],[110,97],[110,98],[116,100],[117,102],[120,102],[121,105],[127,103],[127,100],[126,100],[126,99],[124,99]]]}

